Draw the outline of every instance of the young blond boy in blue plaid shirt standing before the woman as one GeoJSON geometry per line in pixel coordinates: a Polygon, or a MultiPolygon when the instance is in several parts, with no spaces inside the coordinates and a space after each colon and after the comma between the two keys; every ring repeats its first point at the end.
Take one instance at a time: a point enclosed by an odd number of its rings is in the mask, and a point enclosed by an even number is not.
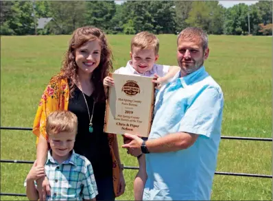
{"type": "Polygon", "coordinates": [[[45,175],[51,187],[47,200],[95,200],[97,185],[92,165],[73,150],[77,127],[78,119],[69,111],[55,111],[47,117],[51,150],[45,168],[36,166],[35,162],[27,175],[25,185],[29,200],[38,200],[35,180],[45,175]]]}

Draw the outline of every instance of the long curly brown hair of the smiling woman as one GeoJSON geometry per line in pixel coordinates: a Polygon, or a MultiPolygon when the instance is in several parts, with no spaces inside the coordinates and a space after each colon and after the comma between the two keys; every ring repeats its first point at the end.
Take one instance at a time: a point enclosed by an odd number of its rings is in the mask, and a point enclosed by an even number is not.
{"type": "Polygon", "coordinates": [[[102,47],[101,58],[98,67],[93,71],[91,81],[94,84],[94,99],[96,102],[106,99],[104,93],[103,80],[112,71],[112,51],[108,45],[106,36],[101,29],[96,27],[80,27],[75,29],[69,42],[69,49],[65,53],[62,61],[62,69],[58,75],[54,76],[54,80],[67,79],[69,82],[69,95],[73,96],[75,83],[78,81],[78,66],[75,62],[75,49],[78,49],[89,40],[99,40],[102,47]]]}

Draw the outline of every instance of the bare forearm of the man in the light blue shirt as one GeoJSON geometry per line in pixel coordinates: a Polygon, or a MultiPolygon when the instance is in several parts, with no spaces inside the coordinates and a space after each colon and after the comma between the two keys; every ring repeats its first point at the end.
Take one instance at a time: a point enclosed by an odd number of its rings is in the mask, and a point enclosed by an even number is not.
{"type": "Polygon", "coordinates": [[[176,152],[187,149],[193,145],[197,138],[198,134],[176,132],[167,134],[165,137],[148,140],[146,147],[152,153],[176,152]]]}

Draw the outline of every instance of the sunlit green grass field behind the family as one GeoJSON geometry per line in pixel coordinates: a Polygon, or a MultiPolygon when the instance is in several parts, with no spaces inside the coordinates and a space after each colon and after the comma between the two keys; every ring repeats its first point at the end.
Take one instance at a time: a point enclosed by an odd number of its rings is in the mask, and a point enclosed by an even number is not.
{"type": "MultiPolygon", "coordinates": [[[[108,36],[115,68],[129,60],[132,36],[108,36]]],[[[160,64],[175,64],[176,36],[159,35],[160,64]]],[[[60,70],[70,36],[1,37],[1,126],[32,127],[40,96],[60,70]]],[[[272,38],[209,36],[206,71],[224,91],[222,135],[272,137],[272,38]]],[[[124,165],[137,160],[120,150],[124,165]]],[[[35,137],[30,131],[1,130],[1,159],[34,160],[35,137]]],[[[31,165],[1,163],[1,192],[25,193],[23,182],[31,165]]],[[[222,139],[219,172],[272,174],[272,143],[222,139]]],[[[135,170],[124,170],[126,193],[117,200],[133,200],[135,170]]],[[[27,200],[1,196],[1,200],[27,200]]],[[[212,200],[272,200],[272,179],[218,176],[212,200]]]]}

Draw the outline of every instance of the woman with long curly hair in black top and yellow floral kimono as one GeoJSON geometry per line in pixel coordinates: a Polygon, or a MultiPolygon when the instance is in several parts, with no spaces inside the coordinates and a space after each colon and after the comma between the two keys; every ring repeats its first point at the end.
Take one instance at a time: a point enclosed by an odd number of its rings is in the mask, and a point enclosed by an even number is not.
{"type": "MultiPolygon", "coordinates": [[[[106,96],[103,80],[112,70],[112,52],[106,36],[95,27],[73,32],[60,73],[49,81],[34,119],[37,165],[47,162],[47,115],[69,110],[78,117],[75,153],[88,158],[97,182],[97,200],[115,200],[125,189],[117,136],[104,133],[106,96]]],[[[58,181],[56,181],[58,182],[58,181]]],[[[37,180],[40,200],[50,194],[47,177],[37,180]]]]}

